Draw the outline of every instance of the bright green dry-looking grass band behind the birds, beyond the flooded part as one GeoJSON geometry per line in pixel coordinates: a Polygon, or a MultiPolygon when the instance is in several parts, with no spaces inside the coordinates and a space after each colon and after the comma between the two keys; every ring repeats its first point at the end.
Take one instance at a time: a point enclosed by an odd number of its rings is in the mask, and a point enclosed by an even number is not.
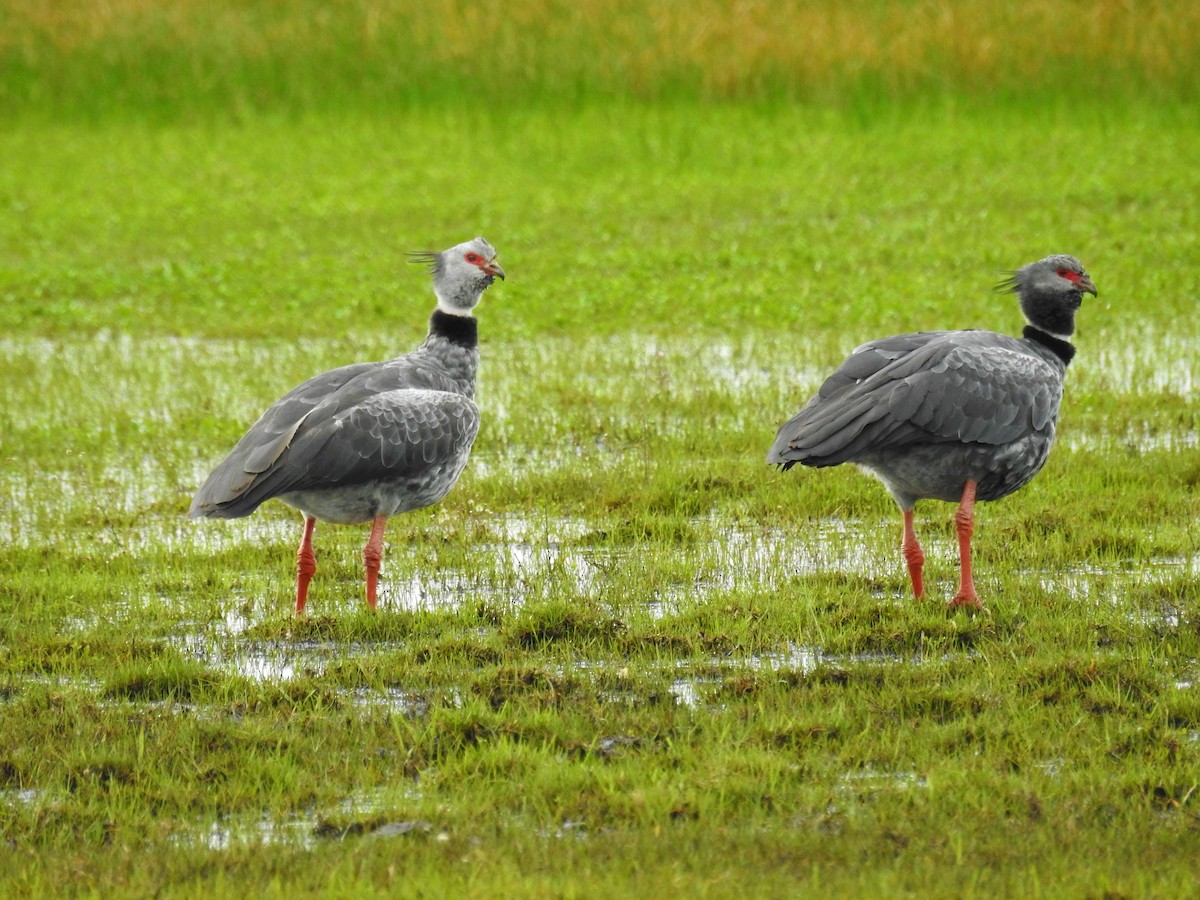
{"type": "Polygon", "coordinates": [[[881,328],[1016,329],[990,287],[1051,250],[1108,286],[1086,337],[1133,324],[1109,312],[1129,304],[1151,324],[1190,314],[1195,181],[1178,161],[1196,130],[1182,107],[858,126],[809,108],[622,104],[29,125],[0,134],[0,326],[388,329],[365,348],[386,353],[424,328],[403,252],[466,228],[506,244],[518,269],[485,307],[497,340],[674,334],[682,311],[690,332],[832,331],[828,362],[881,328]]]}

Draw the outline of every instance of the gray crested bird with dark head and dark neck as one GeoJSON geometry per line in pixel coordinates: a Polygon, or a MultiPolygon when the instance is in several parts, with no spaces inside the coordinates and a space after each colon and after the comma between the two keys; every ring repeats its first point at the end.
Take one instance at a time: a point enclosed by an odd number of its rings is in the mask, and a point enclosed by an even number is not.
{"type": "Polygon", "coordinates": [[[925,593],[917,500],[959,502],[961,577],[950,608],[980,608],[971,577],[974,502],[1022,487],[1054,443],[1068,338],[1084,292],[1069,256],[1030,263],[1002,282],[1026,322],[1022,337],[994,331],[922,331],[857,348],[775,436],[767,462],[790,469],[851,462],[877,476],[904,515],[902,552],[916,596],[925,593]]]}

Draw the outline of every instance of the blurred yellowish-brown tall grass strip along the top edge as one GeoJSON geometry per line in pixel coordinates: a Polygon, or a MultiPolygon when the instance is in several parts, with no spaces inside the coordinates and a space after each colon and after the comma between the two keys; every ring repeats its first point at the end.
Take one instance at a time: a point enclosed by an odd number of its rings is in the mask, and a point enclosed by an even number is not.
{"type": "Polygon", "coordinates": [[[0,24],[0,55],[34,64],[139,43],[224,58],[341,49],[526,83],[686,80],[708,96],[864,74],[892,89],[1021,85],[1092,67],[1178,83],[1200,59],[1192,0],[2,0],[0,24]]]}

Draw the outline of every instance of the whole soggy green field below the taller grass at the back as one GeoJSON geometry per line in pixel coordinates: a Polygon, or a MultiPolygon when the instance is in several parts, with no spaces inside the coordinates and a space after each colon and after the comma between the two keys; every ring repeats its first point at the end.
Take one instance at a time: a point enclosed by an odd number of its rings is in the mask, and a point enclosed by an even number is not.
{"type": "Polygon", "coordinates": [[[1194,115],[880,114],[0,134],[0,889],[1194,893],[1194,115]],[[299,517],[190,494],[476,233],[468,470],[378,614],[319,527],[294,619],[299,517]],[[1100,289],[1060,444],[949,616],[949,505],[916,602],[876,482],[762,460],[862,340],[1018,331],[997,270],[1057,251],[1100,289]]]}

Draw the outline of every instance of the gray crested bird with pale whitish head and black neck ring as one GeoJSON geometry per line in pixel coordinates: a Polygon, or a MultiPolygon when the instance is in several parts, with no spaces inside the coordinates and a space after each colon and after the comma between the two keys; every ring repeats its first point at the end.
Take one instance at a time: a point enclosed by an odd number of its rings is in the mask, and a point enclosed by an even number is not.
{"type": "Polygon", "coordinates": [[[467,464],[479,431],[473,400],[479,366],[473,310],[504,270],[482,238],[430,264],[438,305],[430,334],[412,353],[310,378],[263,413],[209,475],[191,516],[239,518],[277,497],[304,515],[296,552],[296,614],[317,571],[317,520],[371,522],[362,550],[367,605],[376,606],[388,517],[437,503],[467,464]]]}

